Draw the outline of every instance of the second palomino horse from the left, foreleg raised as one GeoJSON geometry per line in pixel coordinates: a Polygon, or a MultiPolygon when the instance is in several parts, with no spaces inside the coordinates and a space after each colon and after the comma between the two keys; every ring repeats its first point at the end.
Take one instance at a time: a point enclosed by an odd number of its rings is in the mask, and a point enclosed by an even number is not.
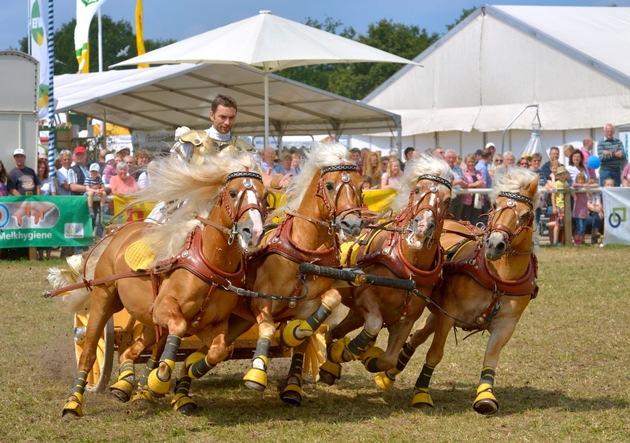
{"type": "MultiPolygon", "coordinates": [[[[260,391],[267,386],[268,354],[276,332],[275,322],[306,318],[317,310],[313,314],[317,318],[311,321],[309,330],[287,343],[296,346],[330,314],[332,308],[328,306],[335,304],[329,298],[340,300],[336,291],[330,290],[332,279],[306,277],[299,272],[300,263],[338,267],[340,242],[347,234],[358,235],[362,223],[361,176],[348,159],[348,149],[339,143],[314,144],[287,194],[286,205],[276,211],[281,217],[280,224],[265,233],[260,248],[248,260],[247,287],[259,297],[239,300],[228,331],[231,343],[258,324],[252,368],[244,380],[247,387],[260,391]],[[327,305],[318,310],[322,300],[327,305]]],[[[199,372],[193,378],[201,375],[199,372]]],[[[176,393],[183,392],[189,384],[186,377],[181,384],[178,380],[176,393]]]]}

